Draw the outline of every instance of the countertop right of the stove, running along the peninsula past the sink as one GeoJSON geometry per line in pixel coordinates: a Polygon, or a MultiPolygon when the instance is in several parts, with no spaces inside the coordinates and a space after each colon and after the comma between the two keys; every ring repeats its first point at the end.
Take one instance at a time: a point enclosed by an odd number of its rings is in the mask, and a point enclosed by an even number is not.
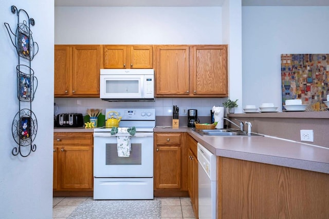
{"type": "Polygon", "coordinates": [[[187,132],[216,156],[329,173],[329,149],[271,136],[201,136],[189,127],[155,127],[154,132],[187,132]]]}

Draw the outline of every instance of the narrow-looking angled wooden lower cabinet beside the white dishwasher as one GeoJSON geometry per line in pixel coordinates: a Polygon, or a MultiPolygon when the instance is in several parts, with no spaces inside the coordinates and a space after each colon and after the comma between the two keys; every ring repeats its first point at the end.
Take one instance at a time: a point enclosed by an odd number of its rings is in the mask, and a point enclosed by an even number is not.
{"type": "Polygon", "coordinates": [[[188,191],[192,208],[196,218],[198,217],[198,161],[197,141],[190,135],[187,136],[188,151],[188,191]]]}

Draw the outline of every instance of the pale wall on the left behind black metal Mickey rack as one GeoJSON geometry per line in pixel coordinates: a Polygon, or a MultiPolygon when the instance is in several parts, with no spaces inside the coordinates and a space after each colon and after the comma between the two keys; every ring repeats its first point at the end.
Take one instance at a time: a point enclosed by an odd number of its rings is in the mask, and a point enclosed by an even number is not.
{"type": "MultiPolygon", "coordinates": [[[[53,112],[53,0],[0,0],[0,218],[52,217],[52,112],[53,112]],[[17,146],[12,137],[12,122],[19,111],[16,88],[17,53],[4,23],[15,31],[17,16],[11,5],[24,9],[35,20],[32,37],[40,50],[31,67],[38,78],[38,89],[32,102],[32,111],[38,121],[38,132],[33,143],[36,151],[28,157],[13,156],[17,146]]],[[[20,13],[21,21],[24,19],[20,13]]],[[[22,61],[21,64],[27,64],[22,61]]],[[[22,107],[26,107],[25,102],[22,107]]]]}

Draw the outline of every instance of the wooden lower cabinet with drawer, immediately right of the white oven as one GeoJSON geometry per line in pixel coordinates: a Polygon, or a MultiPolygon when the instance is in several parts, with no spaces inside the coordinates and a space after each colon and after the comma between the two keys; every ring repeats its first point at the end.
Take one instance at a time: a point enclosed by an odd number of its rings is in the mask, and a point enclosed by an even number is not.
{"type": "Polygon", "coordinates": [[[154,135],[154,196],[187,196],[185,133],[154,135]]]}

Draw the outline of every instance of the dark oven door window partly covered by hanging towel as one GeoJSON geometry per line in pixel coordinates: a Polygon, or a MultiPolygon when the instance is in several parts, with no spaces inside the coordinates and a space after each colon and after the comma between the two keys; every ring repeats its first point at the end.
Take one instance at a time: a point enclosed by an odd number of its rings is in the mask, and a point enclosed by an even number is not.
{"type": "Polygon", "coordinates": [[[118,157],[116,143],[107,143],[105,148],[105,165],[141,165],[142,145],[132,143],[132,151],[129,157],[118,157]]]}

